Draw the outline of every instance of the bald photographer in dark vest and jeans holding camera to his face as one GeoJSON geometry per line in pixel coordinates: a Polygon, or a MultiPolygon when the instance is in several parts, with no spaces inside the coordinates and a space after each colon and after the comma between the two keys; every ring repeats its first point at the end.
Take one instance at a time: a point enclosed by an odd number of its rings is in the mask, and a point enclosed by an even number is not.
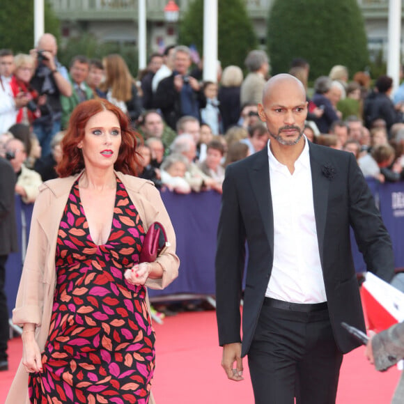
{"type": "Polygon", "coordinates": [[[33,124],[42,156],[49,155],[52,137],[61,130],[61,95],[72,95],[68,71],[59,63],[57,51],[56,38],[51,33],[44,33],[38,40],[36,49],[31,50],[31,56],[36,59],[36,71],[31,85],[38,94],[45,95],[45,103],[40,106],[40,118],[33,124]]]}

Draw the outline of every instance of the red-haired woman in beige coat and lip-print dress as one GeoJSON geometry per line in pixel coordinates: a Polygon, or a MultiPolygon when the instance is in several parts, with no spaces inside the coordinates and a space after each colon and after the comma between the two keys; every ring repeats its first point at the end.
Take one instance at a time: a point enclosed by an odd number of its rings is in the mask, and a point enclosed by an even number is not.
{"type": "Polygon", "coordinates": [[[171,283],[179,261],[160,193],[134,177],[136,146],[127,117],[107,100],[73,111],[61,178],[41,187],[33,209],[13,311],[22,363],[6,403],[149,402],[155,334],[146,286],[171,283]],[[155,221],[171,245],[139,263],[155,221]]]}

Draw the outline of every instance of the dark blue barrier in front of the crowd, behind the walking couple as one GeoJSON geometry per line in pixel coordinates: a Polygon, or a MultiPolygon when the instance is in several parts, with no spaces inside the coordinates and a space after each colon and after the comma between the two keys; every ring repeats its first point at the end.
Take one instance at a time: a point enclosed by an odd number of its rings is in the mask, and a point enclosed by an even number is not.
{"type": "MultiPolygon", "coordinates": [[[[369,187],[380,205],[380,212],[391,235],[396,267],[404,267],[404,182],[379,184],[369,180],[369,187]]],[[[219,220],[221,196],[217,192],[200,194],[175,194],[162,192],[162,199],[173,222],[177,238],[177,254],[180,257],[178,279],[164,290],[149,290],[150,297],[195,293],[215,294],[216,231],[219,220]]],[[[33,205],[15,198],[18,240],[24,247],[23,228],[28,240],[33,205]],[[24,219],[26,226],[24,227],[24,219]]],[[[364,272],[366,265],[359,253],[351,231],[352,256],[357,272],[364,272]]],[[[10,254],[6,264],[6,294],[11,313],[15,305],[18,284],[22,272],[22,251],[10,254]]]]}

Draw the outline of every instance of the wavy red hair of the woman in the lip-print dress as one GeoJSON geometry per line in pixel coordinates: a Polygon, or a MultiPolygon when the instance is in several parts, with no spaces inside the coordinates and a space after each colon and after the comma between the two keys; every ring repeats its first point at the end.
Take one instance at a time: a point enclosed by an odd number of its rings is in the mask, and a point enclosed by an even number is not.
{"type": "Polygon", "coordinates": [[[72,176],[84,169],[83,154],[77,145],[84,139],[84,128],[88,120],[102,111],[111,111],[118,118],[121,127],[122,142],[114,169],[124,174],[137,175],[140,167],[139,157],[136,153],[137,132],[134,132],[127,116],[121,109],[103,98],[98,98],[81,102],[70,116],[68,129],[61,141],[63,157],[56,167],[60,177],[72,176]]]}

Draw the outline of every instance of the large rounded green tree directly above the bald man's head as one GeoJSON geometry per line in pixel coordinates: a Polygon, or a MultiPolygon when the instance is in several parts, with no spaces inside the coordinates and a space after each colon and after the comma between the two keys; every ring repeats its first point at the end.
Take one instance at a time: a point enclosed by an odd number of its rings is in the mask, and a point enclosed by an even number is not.
{"type": "Polygon", "coordinates": [[[345,65],[352,76],[368,65],[364,20],[357,0],[275,0],[267,24],[272,74],[295,57],[310,63],[311,78],[345,65]]]}

